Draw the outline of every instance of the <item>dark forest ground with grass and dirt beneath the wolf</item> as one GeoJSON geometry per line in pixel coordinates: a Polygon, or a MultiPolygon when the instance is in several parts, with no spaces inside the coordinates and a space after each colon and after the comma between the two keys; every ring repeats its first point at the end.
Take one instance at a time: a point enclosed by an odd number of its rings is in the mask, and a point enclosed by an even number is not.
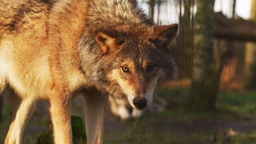
{"type": "MultiPolygon", "coordinates": [[[[220,92],[216,112],[192,114],[185,103],[187,88],[159,88],[169,102],[167,110],[146,113],[135,120],[121,121],[110,112],[104,130],[104,144],[254,144],[256,143],[256,92],[220,92]]],[[[76,98],[73,114],[83,117],[83,99],[76,98]]],[[[10,104],[4,105],[0,144],[11,119],[10,104]]],[[[40,101],[26,126],[24,144],[35,144],[50,122],[47,101],[40,101]]]]}

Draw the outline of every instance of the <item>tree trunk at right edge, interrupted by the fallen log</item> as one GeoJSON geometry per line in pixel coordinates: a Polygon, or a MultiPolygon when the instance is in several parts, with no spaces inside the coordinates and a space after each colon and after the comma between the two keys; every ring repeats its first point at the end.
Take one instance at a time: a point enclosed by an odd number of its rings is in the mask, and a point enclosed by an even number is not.
{"type": "MultiPolygon", "coordinates": [[[[251,0],[250,20],[256,22],[256,0],[251,0]]],[[[244,88],[252,90],[256,88],[256,44],[247,42],[245,44],[244,64],[244,88]]]]}

